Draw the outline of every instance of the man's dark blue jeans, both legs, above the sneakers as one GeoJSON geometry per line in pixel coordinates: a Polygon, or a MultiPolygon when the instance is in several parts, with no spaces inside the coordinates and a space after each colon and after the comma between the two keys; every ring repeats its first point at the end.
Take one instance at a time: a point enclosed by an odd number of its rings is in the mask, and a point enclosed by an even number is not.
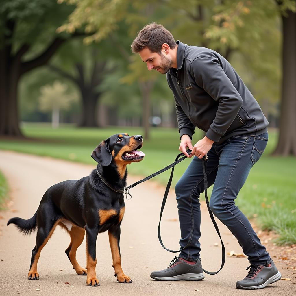
{"type": "MultiPolygon", "coordinates": [[[[267,141],[268,132],[260,136],[233,136],[220,145],[213,145],[207,153],[208,186],[214,184],[210,209],[236,237],[251,264],[269,264],[270,255],[234,200],[250,169],[264,152],[267,141]]],[[[187,245],[191,231],[193,233],[190,245],[180,252],[179,257],[197,261],[200,257],[199,197],[205,190],[201,159],[193,157],[175,190],[181,228],[181,248],[187,245]]]]}

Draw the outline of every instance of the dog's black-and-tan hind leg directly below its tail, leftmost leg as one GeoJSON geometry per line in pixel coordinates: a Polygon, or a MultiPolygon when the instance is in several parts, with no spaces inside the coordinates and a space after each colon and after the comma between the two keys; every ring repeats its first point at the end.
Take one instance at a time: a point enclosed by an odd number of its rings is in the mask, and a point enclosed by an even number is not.
{"type": "Polygon", "coordinates": [[[37,215],[38,230],[36,236],[36,245],[32,250],[28,279],[39,279],[39,274],[37,272],[37,263],[40,257],[41,250],[44,248],[44,246],[52,236],[54,229],[56,228],[58,223],[59,221],[53,221],[52,217],[49,217],[48,214],[40,213],[40,215],[37,215]]]}

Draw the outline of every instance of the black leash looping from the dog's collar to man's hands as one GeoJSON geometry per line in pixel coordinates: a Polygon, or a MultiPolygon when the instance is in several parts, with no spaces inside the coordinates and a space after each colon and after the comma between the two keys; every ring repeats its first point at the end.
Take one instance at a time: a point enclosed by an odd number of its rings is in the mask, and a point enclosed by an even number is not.
{"type": "MultiPolygon", "coordinates": [[[[191,150],[188,149],[188,150],[187,150],[187,153],[188,153],[188,154],[191,154],[191,150]]],[[[165,250],[167,250],[167,251],[169,251],[169,252],[172,252],[172,253],[177,253],[177,252],[180,252],[181,250],[186,249],[186,248],[191,244],[191,242],[192,242],[192,237],[193,237],[193,233],[192,233],[192,231],[191,231],[191,233],[190,233],[190,239],[189,239],[187,245],[186,245],[184,248],[180,249],[180,250],[173,251],[173,250],[167,249],[167,248],[164,246],[163,241],[162,241],[161,236],[160,236],[160,222],[161,222],[161,217],[162,217],[162,215],[163,215],[163,209],[164,209],[164,207],[165,207],[165,202],[166,202],[166,200],[167,200],[168,192],[169,192],[169,190],[170,190],[170,185],[171,185],[171,183],[172,183],[173,174],[174,174],[174,168],[175,168],[175,165],[176,165],[176,164],[180,163],[182,160],[184,160],[184,159],[187,158],[187,156],[184,156],[184,157],[182,157],[182,158],[179,159],[179,157],[180,157],[180,156],[183,156],[183,155],[184,155],[183,153],[178,154],[174,163],[172,163],[172,164],[168,165],[167,167],[165,167],[165,168],[159,170],[158,172],[153,173],[152,175],[150,175],[150,176],[148,176],[148,177],[146,177],[146,178],[144,178],[144,179],[142,179],[142,180],[140,180],[140,181],[138,181],[138,182],[136,182],[136,183],[134,183],[134,184],[132,184],[132,185],[130,185],[130,186],[128,186],[128,187],[126,187],[126,188],[123,189],[123,191],[122,191],[122,193],[125,193],[125,194],[126,194],[126,198],[127,198],[128,195],[131,196],[131,194],[129,193],[129,189],[131,189],[131,188],[133,188],[134,186],[136,186],[136,185],[138,185],[138,184],[140,184],[140,183],[142,183],[142,182],[145,182],[145,181],[147,181],[147,180],[149,180],[149,179],[151,179],[151,178],[153,178],[153,177],[155,177],[155,176],[157,176],[157,175],[159,175],[159,174],[165,172],[166,170],[172,168],[172,172],[171,172],[171,174],[170,174],[170,178],[169,178],[169,180],[168,180],[168,185],[167,185],[167,187],[166,187],[166,189],[165,189],[165,194],[164,194],[164,196],[163,196],[163,203],[162,203],[162,205],[161,205],[161,209],[160,209],[160,219],[159,219],[158,231],[157,231],[158,239],[159,239],[160,244],[163,246],[163,248],[164,248],[165,250]]],[[[209,200],[208,200],[208,198],[207,198],[207,185],[208,185],[208,184],[207,184],[207,173],[206,173],[206,172],[207,172],[207,161],[208,161],[208,160],[209,160],[209,159],[208,159],[207,155],[205,155],[205,159],[202,158],[202,170],[203,170],[203,173],[204,173],[204,180],[205,180],[205,200],[206,200],[206,203],[207,203],[207,209],[208,209],[208,211],[209,211],[210,217],[211,217],[211,219],[212,219],[212,221],[213,221],[213,224],[214,224],[214,226],[215,226],[215,229],[216,229],[216,231],[217,231],[217,233],[218,233],[218,235],[219,235],[219,237],[220,237],[220,240],[221,240],[221,246],[222,246],[222,263],[221,263],[221,267],[220,267],[220,269],[219,269],[218,271],[216,271],[216,272],[206,271],[205,269],[202,269],[202,270],[203,270],[205,273],[207,273],[207,274],[217,274],[217,273],[223,268],[224,263],[225,263],[225,247],[224,247],[224,244],[223,244],[223,241],[222,241],[222,238],[221,238],[221,235],[220,235],[220,232],[219,232],[218,226],[217,226],[217,224],[216,224],[216,222],[215,222],[215,219],[214,219],[213,213],[212,213],[212,211],[211,211],[211,209],[210,209],[209,200]]],[[[131,199],[131,197],[128,198],[128,199],[131,199]]]]}

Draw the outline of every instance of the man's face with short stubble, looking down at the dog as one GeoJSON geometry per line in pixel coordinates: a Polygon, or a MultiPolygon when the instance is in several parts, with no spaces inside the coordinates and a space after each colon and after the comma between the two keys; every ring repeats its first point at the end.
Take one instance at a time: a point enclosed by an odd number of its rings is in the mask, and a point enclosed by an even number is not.
{"type": "Polygon", "coordinates": [[[166,74],[170,70],[172,59],[168,54],[164,54],[164,50],[161,50],[161,54],[152,52],[148,47],[145,47],[139,52],[139,55],[143,62],[146,62],[148,70],[157,70],[161,74],[166,74]]]}

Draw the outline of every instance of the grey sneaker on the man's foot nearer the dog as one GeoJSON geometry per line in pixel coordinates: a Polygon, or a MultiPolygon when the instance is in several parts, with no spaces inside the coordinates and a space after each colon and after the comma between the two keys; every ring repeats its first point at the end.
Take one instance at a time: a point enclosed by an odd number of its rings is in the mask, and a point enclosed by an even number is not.
{"type": "Polygon", "coordinates": [[[152,271],[150,277],[159,281],[200,281],[205,278],[200,258],[196,262],[190,262],[178,257],[171,261],[167,269],[152,271]]]}

